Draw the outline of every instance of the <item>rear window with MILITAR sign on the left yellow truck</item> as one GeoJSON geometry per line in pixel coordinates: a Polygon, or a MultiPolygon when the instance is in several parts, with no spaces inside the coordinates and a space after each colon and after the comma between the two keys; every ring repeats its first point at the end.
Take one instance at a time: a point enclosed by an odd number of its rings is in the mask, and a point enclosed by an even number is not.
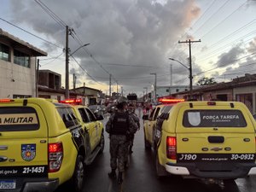
{"type": "Polygon", "coordinates": [[[35,131],[39,127],[38,114],[34,108],[0,108],[0,131],[35,131]]]}

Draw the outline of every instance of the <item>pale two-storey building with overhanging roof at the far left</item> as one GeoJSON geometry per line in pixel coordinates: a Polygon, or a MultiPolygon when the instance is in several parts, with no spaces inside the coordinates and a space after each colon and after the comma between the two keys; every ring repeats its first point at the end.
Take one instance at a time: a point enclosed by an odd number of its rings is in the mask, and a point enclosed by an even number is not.
{"type": "Polygon", "coordinates": [[[37,57],[46,55],[0,28],[0,98],[35,97],[37,57]]]}

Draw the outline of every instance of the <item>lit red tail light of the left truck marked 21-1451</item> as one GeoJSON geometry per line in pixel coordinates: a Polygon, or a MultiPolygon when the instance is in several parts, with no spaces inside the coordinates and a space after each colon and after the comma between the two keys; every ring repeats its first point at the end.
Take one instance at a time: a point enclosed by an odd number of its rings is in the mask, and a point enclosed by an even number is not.
{"type": "Polygon", "coordinates": [[[48,144],[49,172],[58,172],[61,168],[62,160],[63,160],[62,143],[49,143],[48,144]]]}

